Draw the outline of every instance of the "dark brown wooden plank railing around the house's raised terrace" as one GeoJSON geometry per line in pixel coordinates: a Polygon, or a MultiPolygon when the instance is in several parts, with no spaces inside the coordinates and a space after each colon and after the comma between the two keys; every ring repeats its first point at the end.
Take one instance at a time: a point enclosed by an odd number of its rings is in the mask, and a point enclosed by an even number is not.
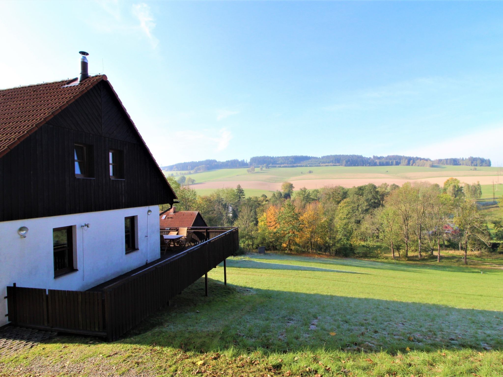
{"type": "MultiPolygon", "coordinates": [[[[200,228],[207,239],[99,290],[86,292],[7,287],[8,316],[12,323],[115,340],[238,248],[237,228],[200,228]],[[208,231],[208,233],[207,233],[208,231]]],[[[169,231],[169,230],[168,230],[169,231]]]]}

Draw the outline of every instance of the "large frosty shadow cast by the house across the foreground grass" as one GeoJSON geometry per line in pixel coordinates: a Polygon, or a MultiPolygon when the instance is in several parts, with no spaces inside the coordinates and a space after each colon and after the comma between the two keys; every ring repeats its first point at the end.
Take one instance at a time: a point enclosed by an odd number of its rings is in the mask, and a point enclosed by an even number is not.
{"type": "MultiPolygon", "coordinates": [[[[288,284],[288,282],[285,282],[288,284]]],[[[119,343],[186,351],[503,349],[503,313],[224,286],[200,279],[119,343]]]]}

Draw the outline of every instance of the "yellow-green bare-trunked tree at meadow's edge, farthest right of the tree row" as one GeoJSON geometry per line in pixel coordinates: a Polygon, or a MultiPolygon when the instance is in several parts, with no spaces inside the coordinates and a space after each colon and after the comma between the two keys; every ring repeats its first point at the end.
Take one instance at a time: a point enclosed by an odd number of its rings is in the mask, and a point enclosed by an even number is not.
{"type": "Polygon", "coordinates": [[[464,250],[463,261],[467,264],[466,255],[468,252],[468,240],[476,238],[489,245],[487,237],[487,225],[473,202],[462,201],[457,209],[457,216],[454,218],[455,224],[462,232],[462,242],[464,250]]]}

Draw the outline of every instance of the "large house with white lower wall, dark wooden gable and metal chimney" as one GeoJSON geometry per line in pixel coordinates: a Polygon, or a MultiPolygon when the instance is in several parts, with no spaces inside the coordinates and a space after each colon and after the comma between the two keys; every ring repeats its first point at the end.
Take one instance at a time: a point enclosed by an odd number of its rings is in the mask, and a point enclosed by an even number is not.
{"type": "Polygon", "coordinates": [[[87,290],[160,257],[158,205],[177,197],[81,55],[79,78],[0,90],[2,297],[13,283],[87,290]]]}

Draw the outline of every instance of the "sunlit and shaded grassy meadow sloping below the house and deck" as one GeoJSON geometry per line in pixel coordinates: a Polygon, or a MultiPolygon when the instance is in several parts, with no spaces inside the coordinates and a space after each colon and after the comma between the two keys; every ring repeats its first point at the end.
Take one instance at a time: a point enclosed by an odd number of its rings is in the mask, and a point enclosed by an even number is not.
{"type": "Polygon", "coordinates": [[[0,375],[503,375],[501,269],[253,254],[209,277],[120,341],[59,336],[0,375]]]}

